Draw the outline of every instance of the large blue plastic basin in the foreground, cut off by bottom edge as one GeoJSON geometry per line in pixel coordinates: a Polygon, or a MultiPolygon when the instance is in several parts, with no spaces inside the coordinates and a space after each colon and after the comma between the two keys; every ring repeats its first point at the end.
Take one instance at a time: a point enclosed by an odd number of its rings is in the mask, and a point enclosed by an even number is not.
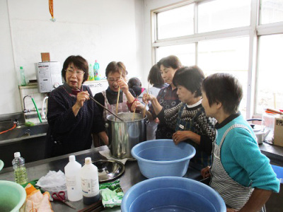
{"type": "Polygon", "coordinates": [[[122,212],[226,211],[224,200],[211,187],[183,177],[155,177],[131,187],[122,199],[122,212]]]}

